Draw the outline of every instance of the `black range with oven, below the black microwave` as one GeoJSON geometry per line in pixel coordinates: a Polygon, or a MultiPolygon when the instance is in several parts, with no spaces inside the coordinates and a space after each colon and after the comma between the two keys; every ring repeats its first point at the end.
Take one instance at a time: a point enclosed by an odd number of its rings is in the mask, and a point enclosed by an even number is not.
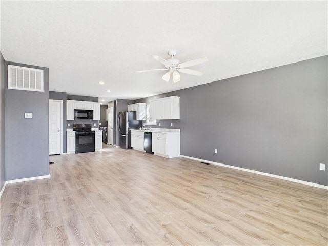
{"type": "Polygon", "coordinates": [[[75,153],[93,152],[95,149],[95,131],[91,131],[91,124],[74,124],[75,153]]]}

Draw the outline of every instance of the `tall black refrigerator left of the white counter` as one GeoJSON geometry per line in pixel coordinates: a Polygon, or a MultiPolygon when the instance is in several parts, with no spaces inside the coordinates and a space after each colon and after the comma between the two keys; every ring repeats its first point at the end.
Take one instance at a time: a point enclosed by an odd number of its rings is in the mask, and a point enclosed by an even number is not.
{"type": "Polygon", "coordinates": [[[136,112],[119,112],[117,118],[118,145],[124,149],[131,149],[131,129],[139,129],[142,125],[141,120],[136,120],[136,112]]]}

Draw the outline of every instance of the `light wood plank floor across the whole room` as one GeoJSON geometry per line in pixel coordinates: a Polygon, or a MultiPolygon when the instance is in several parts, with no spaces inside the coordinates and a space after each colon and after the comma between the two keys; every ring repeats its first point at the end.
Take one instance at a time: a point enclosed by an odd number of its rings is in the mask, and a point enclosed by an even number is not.
{"type": "Polygon", "coordinates": [[[2,245],[327,245],[328,191],[107,146],[7,185],[2,245]]]}

